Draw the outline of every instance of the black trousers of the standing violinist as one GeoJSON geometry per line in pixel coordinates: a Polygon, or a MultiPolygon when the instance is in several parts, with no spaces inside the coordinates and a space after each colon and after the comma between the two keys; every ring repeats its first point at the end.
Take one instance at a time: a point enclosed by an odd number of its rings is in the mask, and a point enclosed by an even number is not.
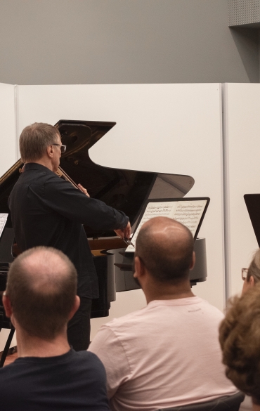
{"type": "Polygon", "coordinates": [[[75,351],[89,348],[91,299],[80,297],[80,306],[67,324],[67,339],[75,351]]]}

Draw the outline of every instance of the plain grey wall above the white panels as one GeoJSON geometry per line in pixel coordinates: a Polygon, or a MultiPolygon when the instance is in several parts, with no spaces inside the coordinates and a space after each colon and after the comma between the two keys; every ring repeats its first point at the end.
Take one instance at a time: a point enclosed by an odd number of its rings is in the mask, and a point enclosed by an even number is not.
{"type": "Polygon", "coordinates": [[[0,82],[258,82],[228,0],[0,0],[0,82]]]}

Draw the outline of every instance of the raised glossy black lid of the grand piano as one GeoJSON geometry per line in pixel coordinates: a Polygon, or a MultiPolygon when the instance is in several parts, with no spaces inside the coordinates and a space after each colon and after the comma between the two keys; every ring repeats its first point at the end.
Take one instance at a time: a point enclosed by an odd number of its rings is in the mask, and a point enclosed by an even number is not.
{"type": "MultiPolygon", "coordinates": [[[[91,197],[124,211],[133,226],[145,200],[183,197],[193,187],[194,179],[176,174],[112,169],[95,164],[89,157],[89,148],[114,126],[115,122],[60,120],[56,127],[60,131],[62,143],[67,145],[60,158],[60,167],[75,183],[81,183],[91,197]]],[[[9,212],[8,195],[18,180],[21,165],[18,160],[0,178],[0,213],[9,212]]],[[[11,227],[10,219],[6,226],[11,227]]],[[[87,226],[85,230],[88,237],[115,236],[113,231],[94,230],[87,226]]]]}

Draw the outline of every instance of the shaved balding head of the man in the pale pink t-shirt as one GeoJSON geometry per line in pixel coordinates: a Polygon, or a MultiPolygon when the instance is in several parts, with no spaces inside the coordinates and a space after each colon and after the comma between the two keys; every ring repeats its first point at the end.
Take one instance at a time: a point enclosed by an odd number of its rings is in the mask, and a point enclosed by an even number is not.
{"type": "Polygon", "coordinates": [[[188,278],[193,261],[193,235],[167,217],[155,217],[143,224],[136,239],[136,256],[159,282],[188,278]]]}

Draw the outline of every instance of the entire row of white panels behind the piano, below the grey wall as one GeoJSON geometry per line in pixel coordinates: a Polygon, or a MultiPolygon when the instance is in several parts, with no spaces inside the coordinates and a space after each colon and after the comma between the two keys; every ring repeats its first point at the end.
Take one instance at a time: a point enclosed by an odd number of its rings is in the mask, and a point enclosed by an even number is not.
{"type": "MultiPolygon", "coordinates": [[[[260,84],[225,84],[226,263],[229,294],[242,287],[241,268],[258,247],[243,195],[259,193],[260,84]]],[[[107,167],[187,174],[188,196],[209,196],[200,236],[207,240],[208,279],[195,294],[224,306],[221,89],[219,84],[12,86],[0,84],[0,173],[18,159],[20,131],[32,122],[59,119],[115,121],[91,148],[107,167]],[[15,125],[15,89],[16,120],[15,125]]],[[[110,318],[141,308],[141,290],[117,293],[110,318]]],[[[93,320],[93,334],[109,318],[93,320]]],[[[0,334],[0,351],[2,337],[0,334]]],[[[93,336],[92,334],[92,336],[93,336]]]]}

